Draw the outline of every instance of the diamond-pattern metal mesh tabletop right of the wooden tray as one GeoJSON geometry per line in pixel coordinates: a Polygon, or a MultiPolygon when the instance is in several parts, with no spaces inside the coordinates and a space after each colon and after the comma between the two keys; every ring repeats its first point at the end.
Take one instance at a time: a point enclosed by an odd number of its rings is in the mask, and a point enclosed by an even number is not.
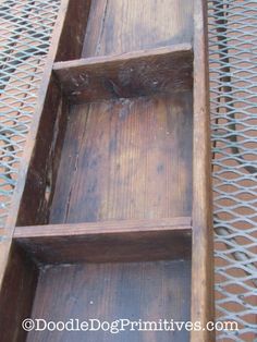
{"type": "Polygon", "coordinates": [[[257,0],[209,4],[217,319],[257,332],[257,0]]]}

